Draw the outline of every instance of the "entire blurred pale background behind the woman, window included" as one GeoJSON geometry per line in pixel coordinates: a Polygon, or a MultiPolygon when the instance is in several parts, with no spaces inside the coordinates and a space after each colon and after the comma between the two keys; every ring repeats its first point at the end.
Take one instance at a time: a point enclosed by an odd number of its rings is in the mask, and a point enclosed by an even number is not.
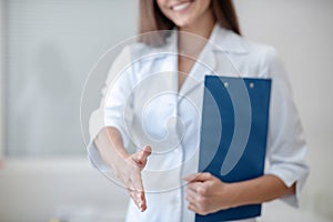
{"type": "MultiPolygon", "coordinates": [[[[234,2],[243,34],[284,61],[309,143],[300,211],[270,203],[263,221],[333,221],[333,1],[234,2]]],[[[79,107],[98,58],[137,32],[138,1],[1,0],[0,13],[0,221],[48,221],[73,206],[122,221],[125,192],[90,168],[79,107]]]]}

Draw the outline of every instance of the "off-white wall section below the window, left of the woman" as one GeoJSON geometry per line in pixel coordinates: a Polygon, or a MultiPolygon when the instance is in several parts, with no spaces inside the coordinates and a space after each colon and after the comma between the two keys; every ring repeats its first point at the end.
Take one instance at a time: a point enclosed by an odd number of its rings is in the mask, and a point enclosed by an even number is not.
{"type": "Polygon", "coordinates": [[[107,209],[110,221],[119,222],[127,202],[125,190],[87,159],[10,160],[0,170],[1,222],[50,221],[63,205],[107,209]]]}

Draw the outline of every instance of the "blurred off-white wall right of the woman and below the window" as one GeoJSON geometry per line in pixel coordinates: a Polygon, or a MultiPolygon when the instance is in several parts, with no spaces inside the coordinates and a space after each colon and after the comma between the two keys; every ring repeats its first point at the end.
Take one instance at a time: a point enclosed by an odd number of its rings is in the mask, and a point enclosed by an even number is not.
{"type": "MultiPolygon", "coordinates": [[[[284,60],[309,141],[306,159],[311,174],[301,196],[301,211],[268,204],[266,221],[304,221],[287,219],[300,214],[309,221],[320,221],[311,218],[311,213],[332,221],[333,1],[235,0],[235,3],[244,36],[273,44],[284,60]]],[[[0,170],[0,221],[47,221],[63,203],[110,205],[110,211],[119,218],[125,209],[124,194],[90,169],[85,159],[7,161],[0,170]]]]}

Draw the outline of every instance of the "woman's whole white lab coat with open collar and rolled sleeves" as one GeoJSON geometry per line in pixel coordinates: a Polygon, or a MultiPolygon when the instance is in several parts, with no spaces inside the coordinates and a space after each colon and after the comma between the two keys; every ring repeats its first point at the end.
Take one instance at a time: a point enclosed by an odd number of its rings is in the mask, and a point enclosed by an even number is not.
{"type": "MultiPolygon", "coordinates": [[[[127,221],[194,221],[186,209],[182,176],[198,171],[203,80],[206,74],[271,78],[271,107],[266,174],[287,186],[296,182],[296,194],[282,200],[297,205],[307,175],[305,141],[292,99],[287,75],[272,47],[248,41],[215,24],[198,62],[178,91],[176,34],[160,48],[135,43],[114,61],[103,89],[101,105],[90,119],[91,141],[104,127],[120,130],[125,147],[151,144],[152,155],[142,172],[148,210],[130,202],[127,221]],[[117,75],[117,78],[114,78],[117,75]]],[[[102,162],[93,143],[90,159],[102,162]]],[[[253,221],[254,219],[250,220],[253,221]]]]}

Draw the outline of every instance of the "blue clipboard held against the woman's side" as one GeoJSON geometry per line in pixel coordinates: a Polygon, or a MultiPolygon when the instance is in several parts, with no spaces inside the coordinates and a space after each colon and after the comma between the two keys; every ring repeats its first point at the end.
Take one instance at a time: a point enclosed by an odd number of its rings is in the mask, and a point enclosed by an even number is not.
{"type": "MultiPolygon", "coordinates": [[[[224,182],[262,175],[271,80],[206,75],[204,87],[199,172],[210,172],[224,182]]],[[[195,214],[195,222],[259,215],[261,204],[251,204],[208,215],[195,214]]]]}

